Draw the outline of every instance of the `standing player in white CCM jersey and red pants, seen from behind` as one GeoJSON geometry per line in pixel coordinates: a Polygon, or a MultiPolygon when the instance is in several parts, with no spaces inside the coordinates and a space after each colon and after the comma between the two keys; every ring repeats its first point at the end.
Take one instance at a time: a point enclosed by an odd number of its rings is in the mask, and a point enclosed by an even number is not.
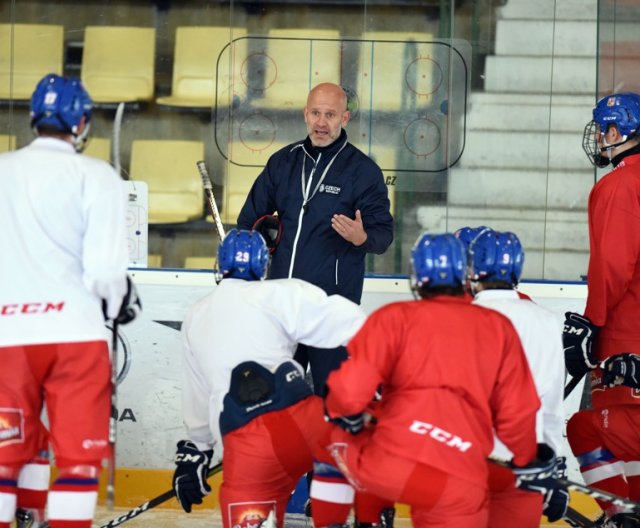
{"type": "Polygon", "coordinates": [[[76,152],[92,101],[46,75],[31,98],[37,138],[0,155],[0,528],[39,446],[46,405],[58,474],[51,528],[89,528],[108,454],[111,365],[105,316],[139,309],[127,277],[126,197],[105,162],[76,152]]]}

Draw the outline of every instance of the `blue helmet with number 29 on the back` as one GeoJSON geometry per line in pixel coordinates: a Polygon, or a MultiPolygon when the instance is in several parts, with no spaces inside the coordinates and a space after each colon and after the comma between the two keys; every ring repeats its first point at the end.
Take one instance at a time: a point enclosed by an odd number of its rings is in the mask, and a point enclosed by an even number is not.
{"type": "Polygon", "coordinates": [[[222,278],[262,280],[269,269],[269,250],[257,231],[232,229],[218,246],[222,278]]]}

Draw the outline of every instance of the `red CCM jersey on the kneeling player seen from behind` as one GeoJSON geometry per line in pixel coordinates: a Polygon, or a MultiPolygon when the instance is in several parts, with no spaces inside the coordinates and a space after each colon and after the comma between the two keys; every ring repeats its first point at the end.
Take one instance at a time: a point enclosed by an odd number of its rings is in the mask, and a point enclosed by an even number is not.
{"type": "Polygon", "coordinates": [[[536,389],[511,323],[438,296],[374,312],[328,380],[331,416],[356,414],[382,385],[372,441],[486,486],[493,429],[523,465],[536,453],[536,389]]]}

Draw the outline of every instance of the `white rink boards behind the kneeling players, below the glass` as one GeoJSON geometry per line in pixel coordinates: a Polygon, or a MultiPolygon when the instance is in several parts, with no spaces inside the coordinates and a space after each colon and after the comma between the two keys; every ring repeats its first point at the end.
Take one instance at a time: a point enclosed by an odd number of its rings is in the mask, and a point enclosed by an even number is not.
{"type": "MultiPolygon", "coordinates": [[[[117,465],[171,469],[175,444],[184,429],[180,332],[167,324],[179,325],[189,306],[214,288],[215,281],[209,271],[131,269],[130,274],[144,310],[119,330],[118,363],[126,373],[118,385],[117,465]]],[[[561,321],[565,311],[584,309],[584,284],[523,283],[519,289],[561,321]]],[[[371,278],[365,280],[362,305],[370,313],[383,304],[411,298],[406,278],[371,278]]],[[[567,417],[578,409],[581,393],[582,383],[566,401],[567,417]]],[[[565,454],[570,478],[581,480],[568,446],[565,454]]]]}

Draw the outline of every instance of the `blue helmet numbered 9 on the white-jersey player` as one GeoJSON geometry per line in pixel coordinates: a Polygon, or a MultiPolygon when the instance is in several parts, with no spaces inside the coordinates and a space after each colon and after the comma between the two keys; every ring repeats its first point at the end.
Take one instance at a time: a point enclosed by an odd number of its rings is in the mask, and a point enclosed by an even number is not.
{"type": "Polygon", "coordinates": [[[469,246],[470,279],[506,282],[515,286],[520,281],[524,250],[518,237],[510,232],[488,230],[469,246]]]}

